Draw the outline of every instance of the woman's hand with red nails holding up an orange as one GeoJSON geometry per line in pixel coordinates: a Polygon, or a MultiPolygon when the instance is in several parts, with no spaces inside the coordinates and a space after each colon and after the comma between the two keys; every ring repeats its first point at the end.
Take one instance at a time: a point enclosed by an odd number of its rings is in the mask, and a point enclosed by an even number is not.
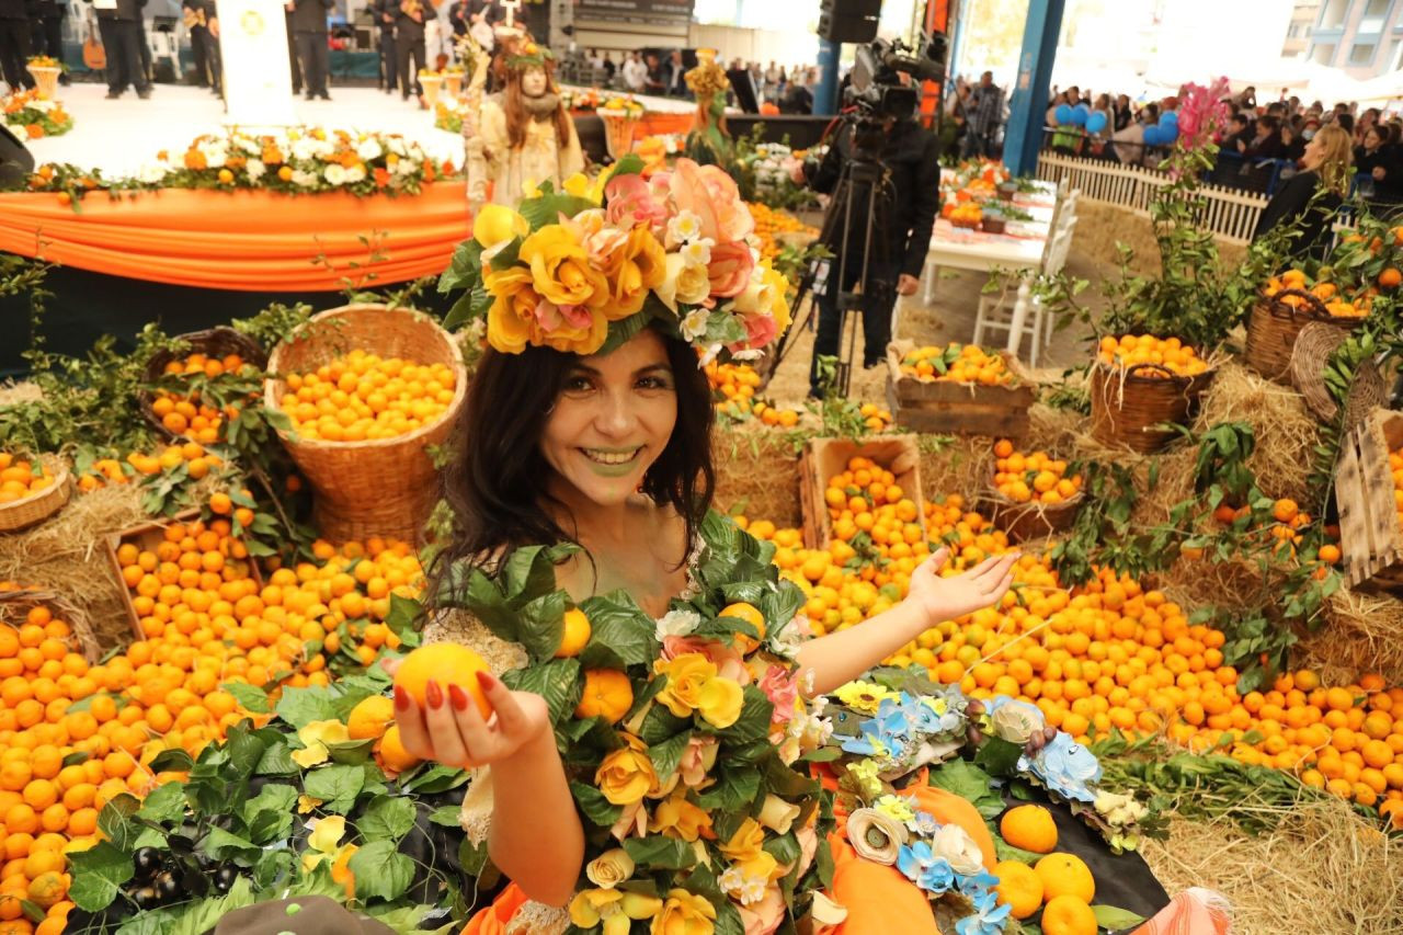
{"type": "MultiPolygon", "coordinates": [[[[400,660],[386,661],[383,667],[393,675],[400,660]]],[[[513,692],[488,672],[476,672],[476,678],[494,710],[487,720],[459,685],[445,689],[429,681],[427,709],[396,687],[394,722],[408,752],[446,767],[485,767],[550,736],[550,710],[544,698],[535,692],[513,692]]]]}

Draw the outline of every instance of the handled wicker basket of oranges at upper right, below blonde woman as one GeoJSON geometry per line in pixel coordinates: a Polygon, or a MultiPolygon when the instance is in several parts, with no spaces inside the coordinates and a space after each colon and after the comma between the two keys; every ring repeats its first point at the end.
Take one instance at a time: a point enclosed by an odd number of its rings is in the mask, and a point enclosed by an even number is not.
{"type": "Polygon", "coordinates": [[[1347,300],[1333,282],[1306,286],[1301,270],[1273,277],[1247,316],[1243,359],[1270,380],[1291,383],[1291,352],[1305,326],[1320,321],[1350,331],[1368,316],[1364,302],[1347,300]]]}

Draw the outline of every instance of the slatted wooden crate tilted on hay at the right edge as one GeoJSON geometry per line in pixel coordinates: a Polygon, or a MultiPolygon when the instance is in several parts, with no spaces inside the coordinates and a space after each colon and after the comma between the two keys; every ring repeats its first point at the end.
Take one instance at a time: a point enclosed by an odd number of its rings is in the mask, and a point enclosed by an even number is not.
{"type": "Polygon", "coordinates": [[[1403,413],[1375,410],[1340,446],[1334,498],[1344,573],[1354,588],[1403,591],[1403,525],[1389,452],[1403,446],[1403,413]]]}

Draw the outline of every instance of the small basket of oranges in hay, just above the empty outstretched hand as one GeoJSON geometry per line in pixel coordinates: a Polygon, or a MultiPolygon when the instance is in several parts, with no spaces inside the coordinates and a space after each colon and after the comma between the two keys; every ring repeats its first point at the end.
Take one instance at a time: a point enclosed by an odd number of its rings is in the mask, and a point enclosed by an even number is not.
{"type": "Polygon", "coordinates": [[[1082,507],[1082,476],[1044,451],[1014,451],[1000,438],[993,445],[993,483],[982,497],[993,525],[1019,542],[1072,528],[1082,507]]]}

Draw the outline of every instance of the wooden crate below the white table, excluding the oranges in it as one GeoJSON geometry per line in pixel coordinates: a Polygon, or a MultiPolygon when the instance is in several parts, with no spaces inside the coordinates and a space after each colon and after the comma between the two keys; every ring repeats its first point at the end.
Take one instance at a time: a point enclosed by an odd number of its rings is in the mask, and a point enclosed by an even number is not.
{"type": "MultiPolygon", "coordinates": [[[[1027,380],[1014,386],[978,386],[950,380],[923,382],[901,372],[913,341],[887,345],[887,404],[902,428],[937,435],[985,435],[1019,441],[1028,434],[1028,409],[1035,393],[1027,380]]],[[[1002,355],[1014,376],[1019,362],[1002,355]]]]}

